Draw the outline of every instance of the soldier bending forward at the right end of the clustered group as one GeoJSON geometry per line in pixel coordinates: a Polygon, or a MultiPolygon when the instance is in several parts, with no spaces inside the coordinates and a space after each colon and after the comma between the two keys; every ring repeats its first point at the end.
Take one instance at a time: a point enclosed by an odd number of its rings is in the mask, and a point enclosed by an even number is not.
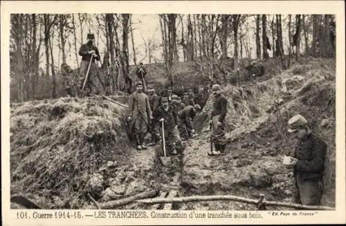
{"type": "Polygon", "coordinates": [[[188,138],[193,138],[195,135],[194,131],[194,116],[201,112],[201,106],[195,104],[194,106],[185,106],[184,109],[178,112],[179,121],[182,122],[183,129],[186,129],[188,138]]]}

